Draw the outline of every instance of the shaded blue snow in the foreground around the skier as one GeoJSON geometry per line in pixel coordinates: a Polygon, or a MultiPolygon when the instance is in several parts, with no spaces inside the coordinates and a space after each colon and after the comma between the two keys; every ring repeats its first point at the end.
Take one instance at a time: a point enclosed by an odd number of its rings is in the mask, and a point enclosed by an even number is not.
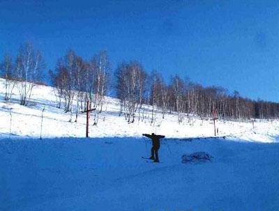
{"type": "Polygon", "coordinates": [[[0,210],[279,210],[279,144],[204,139],[3,139],[0,210]],[[204,151],[211,162],[181,163],[204,151]]]}

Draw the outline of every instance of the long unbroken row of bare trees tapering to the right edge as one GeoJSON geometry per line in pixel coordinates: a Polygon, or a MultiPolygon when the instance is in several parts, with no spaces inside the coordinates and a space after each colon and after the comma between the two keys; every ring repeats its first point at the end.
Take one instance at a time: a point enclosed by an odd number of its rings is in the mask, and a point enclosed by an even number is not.
{"type": "MultiPolygon", "coordinates": [[[[115,72],[116,96],[121,100],[121,112],[133,122],[136,111],[140,119],[142,104],[151,105],[151,123],[158,113],[176,112],[178,121],[192,115],[220,119],[278,118],[279,103],[250,100],[237,91],[232,95],[216,86],[204,87],[179,75],[165,83],[160,72],[147,74],[139,63],[121,63],[115,72]]],[[[143,114],[143,113],[142,113],[143,114]]]]}

